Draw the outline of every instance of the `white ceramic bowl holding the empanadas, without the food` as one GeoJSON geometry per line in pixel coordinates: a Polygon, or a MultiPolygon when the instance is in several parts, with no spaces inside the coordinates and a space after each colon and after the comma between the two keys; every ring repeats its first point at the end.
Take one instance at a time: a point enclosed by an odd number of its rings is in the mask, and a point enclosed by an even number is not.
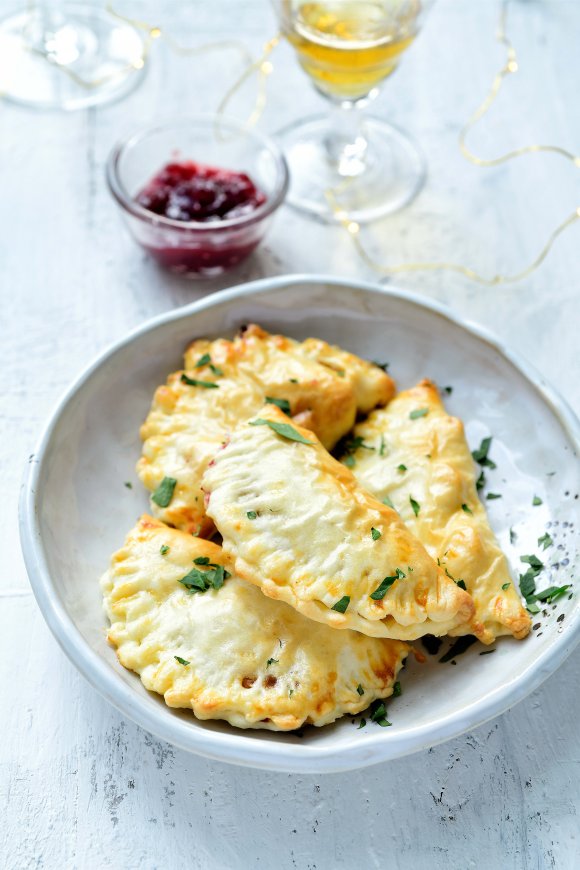
{"type": "Polygon", "coordinates": [[[498,468],[488,478],[502,498],[487,507],[512,569],[522,567],[521,554],[539,552],[555,565],[545,585],[573,576],[580,427],[537,372],[487,332],[408,293],[332,277],[266,279],[135,330],[77,378],[49,421],[26,475],[21,536],[37,601],[67,655],[105,698],[157,736],[211,758],[286,771],[339,771],[395,758],[454,737],[521,700],[578,642],[579,596],[560,599],[547,617],[538,617],[542,627],[527,640],[502,638],[494,655],[480,657],[477,645],[456,667],[438,657],[409,664],[402,697],[388,704],[391,728],[357,730],[344,719],[307,728],[302,737],[236,731],[170,710],[117,663],[105,641],[98,579],[147,507],[134,473],[139,425],[154,388],[180,367],[191,339],[232,334],[249,321],[389,361],[401,387],[424,376],[452,385],[447,404],[466,422],[472,445],[494,437],[498,468]],[[132,490],[126,480],[134,482],[132,490]],[[542,505],[532,506],[534,495],[542,505]],[[547,524],[554,546],[542,553],[537,539],[547,524]]]}

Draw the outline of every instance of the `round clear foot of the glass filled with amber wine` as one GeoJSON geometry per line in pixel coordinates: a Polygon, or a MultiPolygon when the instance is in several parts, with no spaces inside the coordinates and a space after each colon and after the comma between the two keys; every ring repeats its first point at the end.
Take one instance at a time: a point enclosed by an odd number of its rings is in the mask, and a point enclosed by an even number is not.
{"type": "Polygon", "coordinates": [[[321,220],[376,220],[408,205],[427,175],[423,155],[401,130],[380,118],[364,117],[367,141],[362,160],[331,159],[328,117],[307,118],[280,130],[278,140],[290,167],[290,205],[321,220]]]}

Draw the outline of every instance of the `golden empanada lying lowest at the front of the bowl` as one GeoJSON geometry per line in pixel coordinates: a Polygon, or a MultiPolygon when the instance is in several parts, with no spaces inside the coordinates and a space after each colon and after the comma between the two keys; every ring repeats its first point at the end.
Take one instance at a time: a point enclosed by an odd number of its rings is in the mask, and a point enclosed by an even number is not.
{"type": "Polygon", "coordinates": [[[358,713],[392,694],[409,651],[310,622],[235,576],[220,547],[148,516],[101,585],[121,664],[170,707],[238,728],[286,731],[358,713]],[[217,589],[191,593],[180,582],[192,569],[215,579],[216,565],[231,574],[219,571],[217,589]]]}

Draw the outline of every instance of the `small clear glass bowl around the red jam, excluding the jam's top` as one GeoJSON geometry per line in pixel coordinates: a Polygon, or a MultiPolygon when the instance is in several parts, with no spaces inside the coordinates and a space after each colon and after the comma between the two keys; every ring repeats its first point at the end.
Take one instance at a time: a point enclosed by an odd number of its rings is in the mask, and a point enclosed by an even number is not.
{"type": "Polygon", "coordinates": [[[261,241],[288,190],[288,167],[270,139],[231,119],[197,115],[135,133],[113,148],[107,181],[135,240],[172,272],[203,278],[244,260],[261,241]],[[179,221],[136,202],[167,163],[194,160],[245,172],[266,197],[254,211],[211,222],[179,221]]]}

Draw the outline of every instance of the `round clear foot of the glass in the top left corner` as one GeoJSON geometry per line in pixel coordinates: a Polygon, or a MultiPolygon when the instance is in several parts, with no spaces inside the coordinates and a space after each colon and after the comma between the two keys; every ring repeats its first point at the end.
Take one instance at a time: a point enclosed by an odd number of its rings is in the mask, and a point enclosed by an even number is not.
{"type": "Polygon", "coordinates": [[[37,109],[83,109],[139,83],[144,45],[104,9],[65,3],[48,20],[20,12],[0,21],[0,93],[37,109]]]}

